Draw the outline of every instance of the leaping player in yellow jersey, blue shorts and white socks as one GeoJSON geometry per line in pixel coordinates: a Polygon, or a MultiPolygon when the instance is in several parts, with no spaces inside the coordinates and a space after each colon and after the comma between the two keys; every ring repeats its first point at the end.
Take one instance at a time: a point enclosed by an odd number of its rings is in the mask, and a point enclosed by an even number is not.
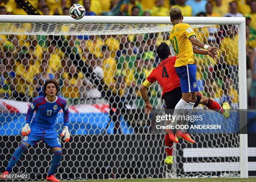
{"type": "MultiPolygon", "coordinates": [[[[182,99],[180,99],[175,106],[173,115],[183,114],[186,116],[192,114],[192,109],[197,99],[196,92],[198,91],[196,78],[197,68],[194,61],[192,45],[207,49],[214,55],[218,55],[218,48],[208,46],[197,40],[195,32],[190,25],[182,23],[183,15],[179,8],[172,8],[170,10],[170,18],[173,24],[170,32],[170,41],[177,56],[174,67],[179,76],[182,91],[182,99]]],[[[229,109],[229,106],[224,106],[223,104],[223,109],[229,109]]],[[[174,125],[175,124],[176,123],[174,123],[174,125]]],[[[189,141],[190,135],[184,130],[182,132],[184,136],[187,137],[186,140],[189,141]]],[[[191,142],[192,141],[191,139],[191,142]]]]}

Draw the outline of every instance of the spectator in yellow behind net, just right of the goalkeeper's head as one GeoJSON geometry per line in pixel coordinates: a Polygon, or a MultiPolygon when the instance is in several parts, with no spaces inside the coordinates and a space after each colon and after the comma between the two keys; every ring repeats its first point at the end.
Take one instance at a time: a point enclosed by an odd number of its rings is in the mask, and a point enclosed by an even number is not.
{"type": "Polygon", "coordinates": [[[62,74],[62,78],[64,79],[64,86],[61,88],[61,91],[67,99],[68,104],[79,104],[79,88],[82,86],[83,74],[72,64],[69,67],[69,71],[62,74]]]}

